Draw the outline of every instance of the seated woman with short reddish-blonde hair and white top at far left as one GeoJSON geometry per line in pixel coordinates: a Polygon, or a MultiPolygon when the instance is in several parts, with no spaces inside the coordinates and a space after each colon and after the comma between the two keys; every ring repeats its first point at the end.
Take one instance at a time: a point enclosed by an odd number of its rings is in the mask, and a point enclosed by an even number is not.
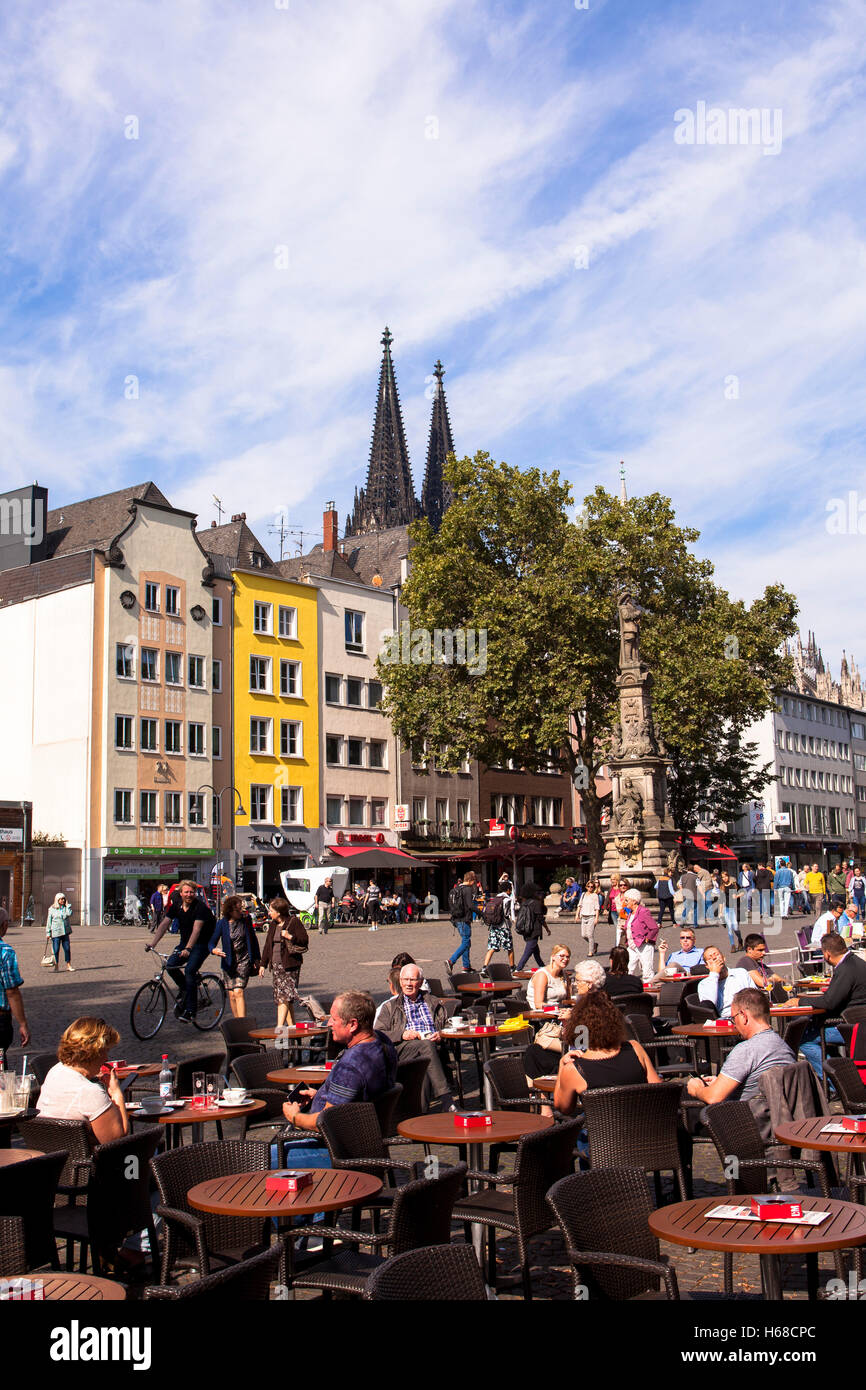
{"type": "Polygon", "coordinates": [[[120,1040],[104,1019],[70,1023],[57,1048],[57,1066],[42,1083],[36,1112],[50,1120],[88,1120],[97,1144],[128,1134],[129,1116],[115,1073],[110,1072],[104,1084],[97,1080],[120,1040]]]}

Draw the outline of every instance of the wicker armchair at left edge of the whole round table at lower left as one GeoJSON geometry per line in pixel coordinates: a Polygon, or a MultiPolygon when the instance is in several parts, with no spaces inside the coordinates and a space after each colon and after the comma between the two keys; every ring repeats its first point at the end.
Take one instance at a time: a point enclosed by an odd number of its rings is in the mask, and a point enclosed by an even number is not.
{"type": "MultiPolygon", "coordinates": [[[[157,1154],[150,1170],[160,1191],[157,1213],[164,1219],[160,1283],[167,1284],[181,1258],[192,1257],[202,1275],[211,1265],[234,1265],[268,1245],[268,1222],[259,1216],[214,1216],[193,1212],[190,1187],[209,1177],[228,1177],[270,1168],[270,1145],[256,1140],[189,1144],[157,1154]]],[[[318,1232],[321,1234],[321,1232],[318,1232]]]]}

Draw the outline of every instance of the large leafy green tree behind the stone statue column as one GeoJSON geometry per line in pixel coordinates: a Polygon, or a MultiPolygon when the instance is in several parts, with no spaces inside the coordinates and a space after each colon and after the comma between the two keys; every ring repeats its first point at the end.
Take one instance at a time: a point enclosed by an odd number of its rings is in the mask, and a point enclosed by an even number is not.
{"type": "Polygon", "coordinates": [[[791,595],[770,588],[751,607],[734,603],[713,584],[710,562],[691,552],[699,534],[677,527],[657,493],[623,505],[596,488],[574,518],[557,473],[478,453],[452,457],[446,478],[455,500],[438,534],[427,521],[411,528],[402,598],[413,631],[485,632],[485,662],[473,671],[427,664],[423,651],[420,662],[395,660],[393,651],[379,657],[400,739],[446,745],[453,766],[513,758],[538,770],[553,758],[585,783],[599,867],[595,780],[617,716],[617,595],[630,584],[648,610],[641,641],[656,673],[677,823],[691,828],[705,803],[730,813],[765,785],[742,733],[788,678],[777,649],[794,630],[791,595]]]}

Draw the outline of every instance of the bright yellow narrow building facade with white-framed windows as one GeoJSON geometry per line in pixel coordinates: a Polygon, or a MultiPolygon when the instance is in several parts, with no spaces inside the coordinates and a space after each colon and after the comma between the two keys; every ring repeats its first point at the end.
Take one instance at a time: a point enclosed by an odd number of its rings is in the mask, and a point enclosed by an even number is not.
{"type": "Polygon", "coordinates": [[[318,596],[272,570],[232,569],[232,581],[238,880],[272,898],[282,894],[282,870],[318,860],[322,849],[318,596]]]}

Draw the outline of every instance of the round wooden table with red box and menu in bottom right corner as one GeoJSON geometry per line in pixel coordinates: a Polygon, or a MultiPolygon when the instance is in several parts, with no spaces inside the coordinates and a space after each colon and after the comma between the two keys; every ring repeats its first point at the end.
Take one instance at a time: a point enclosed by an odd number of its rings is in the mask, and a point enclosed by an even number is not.
{"type": "MultiPolygon", "coordinates": [[[[866,1244],[866,1207],[840,1202],[830,1197],[796,1197],[803,1211],[827,1211],[820,1226],[795,1226],[776,1220],[709,1220],[716,1207],[748,1207],[749,1197],[699,1197],[691,1202],[660,1207],[649,1216],[649,1229],[659,1240],[691,1250],[721,1250],[726,1254],[758,1255],[763,1295],[781,1298],[781,1255],[817,1255],[824,1250],[848,1250],[866,1244]]],[[[815,1297],[815,1276],[809,1295],[815,1297]]]]}

